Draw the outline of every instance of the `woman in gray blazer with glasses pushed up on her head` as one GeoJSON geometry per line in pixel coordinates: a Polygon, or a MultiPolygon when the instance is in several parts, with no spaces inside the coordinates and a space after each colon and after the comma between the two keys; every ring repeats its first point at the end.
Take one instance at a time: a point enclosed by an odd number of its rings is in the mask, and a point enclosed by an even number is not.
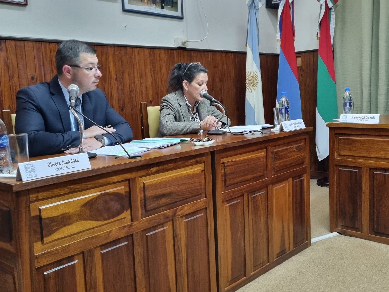
{"type": "MultiPolygon", "coordinates": [[[[183,135],[210,131],[222,113],[210,106],[208,100],[200,97],[200,91],[208,90],[208,70],[199,62],[177,63],[168,79],[167,91],[161,101],[159,116],[159,136],[183,135]]],[[[230,125],[227,117],[219,122],[219,127],[230,125]]]]}

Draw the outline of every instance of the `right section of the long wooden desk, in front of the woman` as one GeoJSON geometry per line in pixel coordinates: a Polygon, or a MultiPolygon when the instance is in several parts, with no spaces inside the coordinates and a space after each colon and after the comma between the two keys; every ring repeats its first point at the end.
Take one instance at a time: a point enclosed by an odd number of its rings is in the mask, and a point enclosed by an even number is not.
{"type": "Polygon", "coordinates": [[[219,292],[237,290],[310,246],[311,130],[214,136],[219,292]]]}

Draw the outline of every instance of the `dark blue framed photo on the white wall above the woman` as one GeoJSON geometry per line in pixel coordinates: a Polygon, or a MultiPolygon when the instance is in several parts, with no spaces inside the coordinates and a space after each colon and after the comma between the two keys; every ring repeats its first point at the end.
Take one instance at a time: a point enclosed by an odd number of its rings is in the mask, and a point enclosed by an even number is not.
{"type": "Polygon", "coordinates": [[[184,18],[182,0],[122,0],[122,10],[170,18],[184,18]]]}

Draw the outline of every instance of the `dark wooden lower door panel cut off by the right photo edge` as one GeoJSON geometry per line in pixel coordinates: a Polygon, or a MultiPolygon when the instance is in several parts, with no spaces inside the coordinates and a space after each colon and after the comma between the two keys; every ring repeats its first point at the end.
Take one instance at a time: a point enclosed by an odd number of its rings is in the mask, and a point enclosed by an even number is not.
{"type": "Polygon", "coordinates": [[[389,169],[370,169],[369,233],[389,238],[389,169]]]}

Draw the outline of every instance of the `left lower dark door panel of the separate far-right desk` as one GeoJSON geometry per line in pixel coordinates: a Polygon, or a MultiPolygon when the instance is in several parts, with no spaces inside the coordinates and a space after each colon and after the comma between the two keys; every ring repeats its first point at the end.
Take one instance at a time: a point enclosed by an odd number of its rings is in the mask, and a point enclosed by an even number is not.
{"type": "Polygon", "coordinates": [[[336,166],[336,227],[362,232],[362,168],[336,166]]]}

